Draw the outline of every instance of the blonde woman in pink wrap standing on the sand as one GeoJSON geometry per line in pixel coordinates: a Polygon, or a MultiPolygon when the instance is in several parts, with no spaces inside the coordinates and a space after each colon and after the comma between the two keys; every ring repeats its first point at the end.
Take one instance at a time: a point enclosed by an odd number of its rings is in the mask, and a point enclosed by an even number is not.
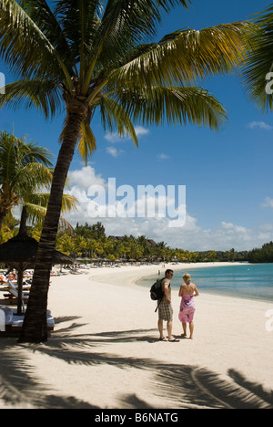
{"type": "Polygon", "coordinates": [[[183,334],[182,337],[187,337],[187,323],[189,324],[190,339],[193,339],[194,323],[193,318],[196,311],[194,297],[198,297],[199,292],[197,286],[191,283],[189,274],[183,275],[184,283],[180,286],[178,296],[181,297],[180,311],[178,318],[182,322],[183,334]]]}

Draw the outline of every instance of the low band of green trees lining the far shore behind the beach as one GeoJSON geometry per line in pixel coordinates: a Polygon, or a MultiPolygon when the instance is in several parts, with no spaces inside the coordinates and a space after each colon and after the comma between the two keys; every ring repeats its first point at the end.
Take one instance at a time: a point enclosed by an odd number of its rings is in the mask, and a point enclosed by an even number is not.
{"type": "MultiPolygon", "coordinates": [[[[14,219],[0,231],[0,243],[18,232],[19,222],[14,219]]],[[[28,234],[39,239],[41,234],[40,222],[36,226],[28,226],[28,234]]],[[[164,242],[156,243],[145,235],[107,236],[102,223],[76,224],[75,230],[59,231],[56,239],[56,249],[66,255],[78,259],[79,262],[90,261],[136,261],[136,262],[223,262],[247,261],[248,251],[204,251],[190,252],[186,249],[172,248],[164,242]]],[[[273,248],[272,248],[273,252],[273,248]]]]}

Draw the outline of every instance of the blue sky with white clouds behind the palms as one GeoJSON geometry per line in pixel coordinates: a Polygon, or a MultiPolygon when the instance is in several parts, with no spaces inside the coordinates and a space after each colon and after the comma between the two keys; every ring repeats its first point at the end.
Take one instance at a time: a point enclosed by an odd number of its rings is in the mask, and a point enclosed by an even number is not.
{"type": "MultiPolygon", "coordinates": [[[[269,1],[192,0],[164,19],[158,39],[178,28],[200,29],[245,20],[269,1]]],[[[6,83],[13,77],[0,62],[6,83]]],[[[207,78],[208,89],[227,109],[228,122],[218,131],[195,126],[138,128],[139,148],[128,139],[106,135],[93,121],[97,150],[87,168],[76,154],[71,166],[71,193],[81,202],[67,219],[92,224],[86,191],[93,183],[187,186],[187,221],[170,228],[167,219],[105,218],[107,234],[146,234],[156,241],[188,250],[251,249],[273,240],[273,113],[262,114],[248,99],[236,76],[207,78]]],[[[33,110],[1,109],[0,129],[12,131],[57,155],[63,117],[46,122],[33,110]]]]}

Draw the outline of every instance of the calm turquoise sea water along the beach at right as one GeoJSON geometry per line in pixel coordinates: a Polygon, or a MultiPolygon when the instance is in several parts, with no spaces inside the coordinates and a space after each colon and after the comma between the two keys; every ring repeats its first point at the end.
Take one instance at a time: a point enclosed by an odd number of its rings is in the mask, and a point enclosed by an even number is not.
{"type": "MultiPolygon", "coordinates": [[[[172,289],[175,291],[183,282],[184,273],[191,275],[192,282],[200,293],[273,301],[273,264],[242,264],[175,270],[171,281],[172,289]]],[[[162,276],[163,274],[159,277],[162,276]]],[[[148,276],[137,283],[140,286],[150,287],[157,278],[158,276],[148,276]]]]}

